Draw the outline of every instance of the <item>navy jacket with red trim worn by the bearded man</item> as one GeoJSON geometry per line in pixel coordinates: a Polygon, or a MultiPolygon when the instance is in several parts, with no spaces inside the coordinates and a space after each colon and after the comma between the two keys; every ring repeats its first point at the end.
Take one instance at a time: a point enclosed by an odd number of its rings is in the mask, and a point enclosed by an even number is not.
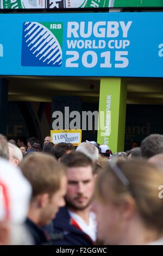
{"type": "Polygon", "coordinates": [[[91,237],[85,234],[68,214],[61,208],[48,231],[52,245],[93,245],[91,237]]]}

